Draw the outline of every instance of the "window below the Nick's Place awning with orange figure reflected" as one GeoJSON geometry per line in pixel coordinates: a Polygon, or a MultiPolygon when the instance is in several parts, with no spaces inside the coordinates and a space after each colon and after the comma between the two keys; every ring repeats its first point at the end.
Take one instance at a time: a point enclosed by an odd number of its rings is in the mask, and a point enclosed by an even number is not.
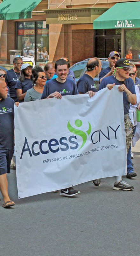
{"type": "Polygon", "coordinates": [[[140,29],[125,30],[125,58],[140,59],[140,29]]]}

